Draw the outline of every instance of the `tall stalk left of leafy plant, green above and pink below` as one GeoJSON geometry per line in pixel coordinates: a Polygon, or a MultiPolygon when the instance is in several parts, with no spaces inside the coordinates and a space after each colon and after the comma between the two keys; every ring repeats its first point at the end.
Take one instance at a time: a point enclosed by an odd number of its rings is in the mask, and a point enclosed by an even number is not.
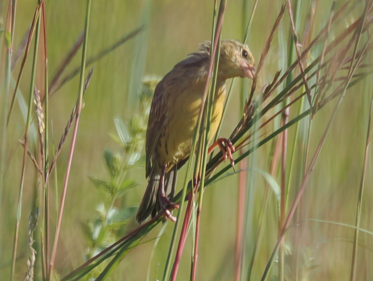
{"type": "Polygon", "coordinates": [[[60,230],[61,221],[62,221],[63,206],[65,204],[65,197],[66,197],[67,185],[68,185],[68,180],[69,180],[70,167],[71,167],[72,156],[73,156],[74,147],[75,147],[76,133],[78,131],[79,116],[82,110],[83,91],[84,91],[84,72],[85,72],[85,60],[86,60],[86,53],[87,53],[87,38],[88,38],[90,10],[91,10],[91,0],[87,0],[87,10],[86,10],[86,15],[85,15],[85,26],[84,26],[84,41],[83,41],[82,60],[81,60],[81,73],[80,73],[80,80],[79,80],[78,108],[76,110],[75,127],[74,127],[74,131],[72,135],[72,142],[71,142],[70,154],[69,154],[69,159],[68,159],[68,165],[66,168],[65,181],[63,184],[59,216],[58,216],[57,226],[56,226],[56,237],[54,238],[51,260],[50,260],[49,268],[47,272],[49,281],[52,278],[54,260],[56,259],[57,243],[58,243],[59,230],[60,230]]]}

